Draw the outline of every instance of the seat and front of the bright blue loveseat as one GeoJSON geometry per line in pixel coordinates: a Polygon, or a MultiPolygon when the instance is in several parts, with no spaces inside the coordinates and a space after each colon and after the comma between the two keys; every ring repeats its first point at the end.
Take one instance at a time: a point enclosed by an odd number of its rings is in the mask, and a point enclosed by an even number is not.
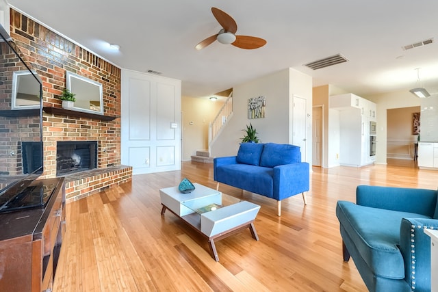
{"type": "Polygon", "coordinates": [[[216,168],[216,181],[272,198],[273,172],[272,168],[249,164],[222,165],[216,168]]]}

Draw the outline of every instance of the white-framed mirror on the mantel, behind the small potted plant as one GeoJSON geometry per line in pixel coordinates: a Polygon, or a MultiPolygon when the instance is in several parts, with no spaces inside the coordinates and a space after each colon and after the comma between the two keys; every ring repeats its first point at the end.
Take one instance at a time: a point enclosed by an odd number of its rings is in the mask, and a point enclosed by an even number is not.
{"type": "Polygon", "coordinates": [[[102,84],[81,75],[66,71],[66,86],[75,95],[73,109],[103,115],[102,84]]]}

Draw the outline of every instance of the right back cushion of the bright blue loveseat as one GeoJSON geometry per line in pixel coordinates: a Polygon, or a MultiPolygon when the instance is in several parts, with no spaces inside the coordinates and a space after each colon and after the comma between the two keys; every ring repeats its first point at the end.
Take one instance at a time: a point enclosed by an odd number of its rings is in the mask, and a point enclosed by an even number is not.
{"type": "Polygon", "coordinates": [[[261,152],[260,166],[273,168],[277,165],[301,162],[300,147],[289,144],[266,143],[261,152]]]}

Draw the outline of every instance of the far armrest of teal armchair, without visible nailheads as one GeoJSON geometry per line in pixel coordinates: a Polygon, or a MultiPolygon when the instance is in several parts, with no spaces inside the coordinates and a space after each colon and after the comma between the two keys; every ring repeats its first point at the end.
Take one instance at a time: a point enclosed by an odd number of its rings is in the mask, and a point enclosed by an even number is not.
{"type": "Polygon", "coordinates": [[[433,217],[437,205],[437,191],[433,189],[359,185],[356,189],[356,203],[366,207],[433,217]]]}

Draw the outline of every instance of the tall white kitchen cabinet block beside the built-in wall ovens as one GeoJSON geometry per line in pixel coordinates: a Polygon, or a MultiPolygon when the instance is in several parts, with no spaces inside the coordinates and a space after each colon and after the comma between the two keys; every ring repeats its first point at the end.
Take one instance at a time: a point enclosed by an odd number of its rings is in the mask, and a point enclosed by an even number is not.
{"type": "Polygon", "coordinates": [[[355,94],[330,96],[331,109],[339,111],[339,164],[363,166],[370,156],[370,121],[376,120],[376,104],[355,94]]]}

